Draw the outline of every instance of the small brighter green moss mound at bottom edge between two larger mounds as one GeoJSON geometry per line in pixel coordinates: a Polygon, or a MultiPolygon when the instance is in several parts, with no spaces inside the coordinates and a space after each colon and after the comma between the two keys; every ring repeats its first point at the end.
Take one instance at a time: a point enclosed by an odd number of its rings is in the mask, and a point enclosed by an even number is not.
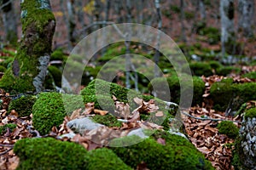
{"type": "Polygon", "coordinates": [[[116,156],[112,150],[108,150],[107,148],[101,148],[96,150],[90,150],[87,155],[87,164],[85,169],[131,169],[131,167],[127,166],[124,161],[122,161],[118,156],[116,156]]]}

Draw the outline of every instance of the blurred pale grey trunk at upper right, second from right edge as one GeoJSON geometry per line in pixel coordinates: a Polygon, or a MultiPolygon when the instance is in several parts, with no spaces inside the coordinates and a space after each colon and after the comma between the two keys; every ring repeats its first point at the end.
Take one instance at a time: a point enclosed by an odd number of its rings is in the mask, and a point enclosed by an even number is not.
{"type": "Polygon", "coordinates": [[[221,52],[226,53],[226,48],[233,48],[235,42],[234,29],[234,0],[220,1],[221,19],[221,52]]]}

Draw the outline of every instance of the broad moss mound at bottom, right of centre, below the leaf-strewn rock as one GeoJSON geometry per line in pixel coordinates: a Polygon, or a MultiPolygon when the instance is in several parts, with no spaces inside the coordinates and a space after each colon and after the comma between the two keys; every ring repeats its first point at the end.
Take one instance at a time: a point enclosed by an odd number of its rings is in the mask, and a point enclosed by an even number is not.
{"type": "MultiPolygon", "coordinates": [[[[136,140],[137,136],[125,137],[124,140],[136,140]]],[[[113,142],[118,142],[113,140],[113,142]]],[[[122,143],[123,142],[123,143],[122,143]]],[[[145,162],[149,169],[213,169],[211,163],[196,150],[187,139],[177,135],[168,135],[166,145],[159,144],[155,139],[144,139],[138,144],[127,147],[114,147],[116,153],[127,165],[136,168],[141,162],[145,162]]]]}

